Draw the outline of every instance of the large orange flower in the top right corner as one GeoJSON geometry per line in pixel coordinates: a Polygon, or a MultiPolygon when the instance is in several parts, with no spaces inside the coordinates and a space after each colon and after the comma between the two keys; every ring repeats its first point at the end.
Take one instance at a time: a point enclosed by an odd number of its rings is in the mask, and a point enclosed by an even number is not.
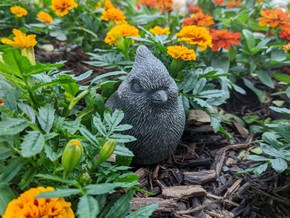
{"type": "Polygon", "coordinates": [[[258,18],[260,26],[280,27],[281,29],[290,28],[290,12],[278,10],[261,10],[262,17],[258,18]]]}

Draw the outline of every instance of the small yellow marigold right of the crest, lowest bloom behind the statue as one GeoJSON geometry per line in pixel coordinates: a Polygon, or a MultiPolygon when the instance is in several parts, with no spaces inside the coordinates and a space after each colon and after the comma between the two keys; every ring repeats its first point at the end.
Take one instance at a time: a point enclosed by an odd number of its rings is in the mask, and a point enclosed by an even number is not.
{"type": "Polygon", "coordinates": [[[175,58],[184,61],[196,60],[195,51],[193,49],[188,49],[183,45],[169,46],[167,48],[167,53],[175,58]]]}

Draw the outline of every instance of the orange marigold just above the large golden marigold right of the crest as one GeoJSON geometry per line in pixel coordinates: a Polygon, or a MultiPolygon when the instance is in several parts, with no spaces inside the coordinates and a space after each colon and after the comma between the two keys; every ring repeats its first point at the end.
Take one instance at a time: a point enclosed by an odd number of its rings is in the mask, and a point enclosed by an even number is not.
{"type": "Polygon", "coordinates": [[[203,12],[198,12],[195,14],[191,14],[190,17],[184,19],[182,23],[182,27],[189,25],[210,26],[214,24],[214,21],[212,20],[211,16],[204,14],[203,12]]]}

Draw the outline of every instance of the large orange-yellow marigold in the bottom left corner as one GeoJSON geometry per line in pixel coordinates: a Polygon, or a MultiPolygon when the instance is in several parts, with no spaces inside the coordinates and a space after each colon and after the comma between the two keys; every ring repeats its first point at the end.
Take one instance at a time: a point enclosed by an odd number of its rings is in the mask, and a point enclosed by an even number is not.
{"type": "Polygon", "coordinates": [[[64,198],[39,198],[34,197],[42,192],[54,191],[52,187],[31,188],[22,193],[17,199],[10,201],[3,218],[19,217],[66,217],[74,218],[74,212],[71,209],[71,203],[66,202],[64,198]]]}

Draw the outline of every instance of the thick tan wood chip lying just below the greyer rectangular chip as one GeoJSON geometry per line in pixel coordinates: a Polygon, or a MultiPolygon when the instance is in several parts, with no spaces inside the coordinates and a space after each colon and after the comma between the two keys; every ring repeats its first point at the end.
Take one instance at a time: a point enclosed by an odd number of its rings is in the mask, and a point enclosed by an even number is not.
{"type": "Polygon", "coordinates": [[[187,199],[189,197],[205,196],[206,191],[200,185],[164,187],[162,194],[165,198],[187,199]]]}

